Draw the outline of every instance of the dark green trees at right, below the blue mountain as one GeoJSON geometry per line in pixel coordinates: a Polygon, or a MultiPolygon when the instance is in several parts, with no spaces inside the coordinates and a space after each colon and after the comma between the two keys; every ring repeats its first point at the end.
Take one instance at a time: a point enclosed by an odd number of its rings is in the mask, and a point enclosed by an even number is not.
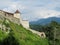
{"type": "Polygon", "coordinates": [[[60,45],[60,24],[52,21],[49,24],[39,26],[31,25],[32,29],[45,32],[50,45],[60,45]],[[35,28],[34,28],[35,27],[35,28]]]}

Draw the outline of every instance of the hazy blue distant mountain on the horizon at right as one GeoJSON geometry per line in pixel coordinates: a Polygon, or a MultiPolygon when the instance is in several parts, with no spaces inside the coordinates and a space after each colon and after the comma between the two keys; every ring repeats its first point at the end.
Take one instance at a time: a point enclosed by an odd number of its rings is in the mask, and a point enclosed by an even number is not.
{"type": "Polygon", "coordinates": [[[44,25],[44,24],[50,23],[51,21],[56,21],[56,22],[60,23],[60,18],[49,17],[49,18],[46,18],[46,19],[39,19],[37,21],[32,21],[32,22],[30,22],[30,24],[42,24],[42,25],[44,25]]]}

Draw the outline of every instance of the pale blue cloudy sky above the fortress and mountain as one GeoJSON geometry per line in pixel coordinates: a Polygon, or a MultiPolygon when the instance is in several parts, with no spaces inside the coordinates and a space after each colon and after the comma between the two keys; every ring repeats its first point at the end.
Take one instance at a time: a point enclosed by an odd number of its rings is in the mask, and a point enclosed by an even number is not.
{"type": "Polygon", "coordinates": [[[23,20],[36,21],[49,17],[60,17],[60,0],[0,0],[0,9],[21,12],[23,20]]]}

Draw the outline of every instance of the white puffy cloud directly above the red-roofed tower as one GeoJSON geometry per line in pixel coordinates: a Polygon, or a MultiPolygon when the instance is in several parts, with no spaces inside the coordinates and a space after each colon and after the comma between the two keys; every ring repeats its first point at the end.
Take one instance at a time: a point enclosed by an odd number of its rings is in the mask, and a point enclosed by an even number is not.
{"type": "Polygon", "coordinates": [[[15,10],[24,10],[26,7],[23,6],[22,4],[18,3],[18,2],[13,2],[10,5],[8,5],[8,7],[3,8],[4,11],[8,11],[8,12],[14,12],[15,10]]]}

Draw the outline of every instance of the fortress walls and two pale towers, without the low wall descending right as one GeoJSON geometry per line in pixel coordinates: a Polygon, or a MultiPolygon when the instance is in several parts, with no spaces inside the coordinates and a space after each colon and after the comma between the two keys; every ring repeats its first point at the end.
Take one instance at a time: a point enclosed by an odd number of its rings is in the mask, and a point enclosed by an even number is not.
{"type": "Polygon", "coordinates": [[[29,28],[29,21],[23,20],[21,17],[21,13],[19,10],[16,10],[15,13],[9,13],[3,10],[0,10],[0,19],[3,19],[3,17],[9,19],[10,21],[21,24],[24,28],[29,28]]]}

